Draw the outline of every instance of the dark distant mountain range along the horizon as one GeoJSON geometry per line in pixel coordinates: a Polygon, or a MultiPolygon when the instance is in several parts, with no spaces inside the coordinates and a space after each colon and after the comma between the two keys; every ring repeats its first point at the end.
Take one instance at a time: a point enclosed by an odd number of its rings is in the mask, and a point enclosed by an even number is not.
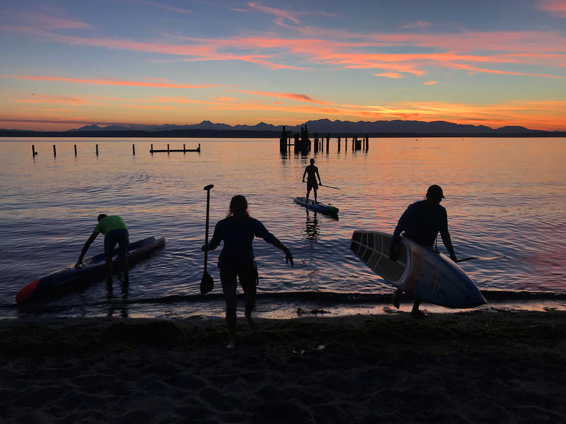
{"type": "MultiPolygon", "coordinates": [[[[524,126],[502,126],[491,128],[485,125],[454,124],[446,121],[330,121],[317,119],[285,129],[299,133],[307,126],[311,136],[345,136],[368,134],[369,136],[566,136],[566,131],[540,131],[524,126]]],[[[133,137],[272,137],[279,136],[281,125],[229,125],[202,121],[187,125],[109,125],[96,124],[81,126],[68,131],[22,131],[0,129],[0,136],[133,136],[133,137]]]]}

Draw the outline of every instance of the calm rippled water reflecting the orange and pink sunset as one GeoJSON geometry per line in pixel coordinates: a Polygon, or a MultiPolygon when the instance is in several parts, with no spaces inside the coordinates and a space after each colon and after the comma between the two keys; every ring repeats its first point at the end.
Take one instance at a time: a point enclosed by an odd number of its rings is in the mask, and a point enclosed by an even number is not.
{"type": "MultiPolygon", "coordinates": [[[[329,153],[287,156],[278,150],[277,140],[2,139],[0,317],[30,313],[14,306],[18,290],[74,264],[98,213],[122,216],[132,241],[166,237],[166,249],[132,269],[129,316],[220,314],[219,296],[193,297],[202,276],[207,184],[214,184],[212,228],[224,218],[231,196],[244,194],[252,216],[296,258],[291,268],[278,249],[254,242],[259,310],[266,314],[296,307],[304,298],[316,300],[316,293],[361,293],[360,299],[391,293],[350,254],[350,235],[355,229],[393,232],[400,214],[432,183],[444,188],[458,257],[507,256],[462,264],[478,287],[566,292],[566,139],[371,139],[367,153],[352,153],[351,146],[344,151],[343,141],[337,153],[333,140],[329,153]],[[201,143],[202,153],[151,155],[150,143],[201,143]],[[35,159],[32,144],[39,152],[35,159]],[[323,184],[342,189],[319,192],[320,201],[340,208],[337,220],[292,201],[304,195],[301,176],[312,157],[323,184]]],[[[86,256],[102,252],[102,242],[99,236],[86,256]]],[[[440,240],[439,248],[446,252],[440,240]]],[[[213,294],[221,291],[218,254],[209,257],[213,294]]],[[[116,281],[116,293],[119,288],[116,281]]],[[[97,283],[48,302],[40,312],[91,316],[113,308],[105,302],[105,284],[97,283]]]]}

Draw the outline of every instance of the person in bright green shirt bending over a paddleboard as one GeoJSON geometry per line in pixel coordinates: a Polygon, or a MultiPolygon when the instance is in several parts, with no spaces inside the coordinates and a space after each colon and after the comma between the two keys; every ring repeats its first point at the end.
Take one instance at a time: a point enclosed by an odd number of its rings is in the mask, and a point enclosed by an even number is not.
{"type": "Polygon", "coordinates": [[[117,244],[120,247],[118,256],[122,261],[122,273],[124,274],[124,285],[122,287],[122,292],[127,292],[127,284],[129,283],[129,273],[128,273],[128,259],[127,259],[127,249],[129,243],[129,234],[126,224],[120,218],[120,216],[113,215],[107,216],[105,213],[100,213],[98,216],[98,224],[93,230],[91,237],[88,237],[86,243],[83,246],[81,256],[76,262],[76,268],[84,266],[83,257],[91,247],[92,242],[96,239],[98,234],[102,232],[104,235],[104,255],[106,259],[106,287],[108,288],[108,298],[112,298],[112,251],[117,244]]]}

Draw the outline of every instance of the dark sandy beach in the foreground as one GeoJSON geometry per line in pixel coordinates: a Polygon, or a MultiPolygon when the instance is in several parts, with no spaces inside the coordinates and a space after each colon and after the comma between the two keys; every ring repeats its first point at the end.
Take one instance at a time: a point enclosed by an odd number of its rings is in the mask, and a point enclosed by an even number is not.
{"type": "Polygon", "coordinates": [[[558,423],[566,313],[0,322],[1,423],[558,423]]]}

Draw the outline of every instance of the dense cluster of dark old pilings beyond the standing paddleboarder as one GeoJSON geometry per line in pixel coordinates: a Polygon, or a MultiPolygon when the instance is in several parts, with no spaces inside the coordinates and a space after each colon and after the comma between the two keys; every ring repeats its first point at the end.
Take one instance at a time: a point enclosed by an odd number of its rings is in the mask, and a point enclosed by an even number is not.
{"type": "MultiPolygon", "coordinates": [[[[358,136],[352,136],[352,151],[368,151],[369,150],[369,137],[367,134],[358,138],[358,136]]],[[[294,133],[293,131],[286,131],[285,126],[281,131],[281,136],[279,137],[279,151],[281,153],[287,153],[288,151],[294,150],[294,153],[308,153],[314,151],[314,153],[323,152],[324,145],[326,142],[326,151],[330,151],[330,135],[326,137],[319,137],[318,133],[314,133],[314,139],[308,136],[308,129],[305,126],[301,126],[301,133],[294,133]]],[[[342,137],[337,137],[337,148],[340,152],[342,148],[342,137]]],[[[348,151],[348,136],[344,136],[344,148],[348,151]]]]}

